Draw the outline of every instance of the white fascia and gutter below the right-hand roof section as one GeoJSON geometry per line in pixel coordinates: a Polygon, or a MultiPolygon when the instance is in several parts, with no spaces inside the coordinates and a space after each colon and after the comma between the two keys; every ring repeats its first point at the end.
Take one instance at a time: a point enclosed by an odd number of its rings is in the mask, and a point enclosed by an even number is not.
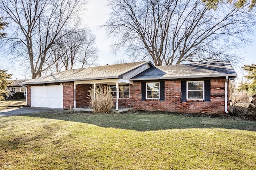
{"type": "Polygon", "coordinates": [[[156,78],[131,78],[131,81],[141,80],[168,80],[168,79],[187,79],[187,78],[211,78],[211,77],[236,77],[236,74],[212,74],[212,75],[199,75],[199,76],[175,76],[175,77],[156,77],[156,78]]]}

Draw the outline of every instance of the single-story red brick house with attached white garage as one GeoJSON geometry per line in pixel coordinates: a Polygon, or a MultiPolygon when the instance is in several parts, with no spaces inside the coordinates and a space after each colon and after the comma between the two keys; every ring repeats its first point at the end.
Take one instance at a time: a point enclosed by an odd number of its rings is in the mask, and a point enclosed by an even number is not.
{"type": "Polygon", "coordinates": [[[88,90],[103,84],[112,89],[117,110],[227,113],[228,80],[234,78],[229,61],[168,66],[146,61],[66,70],[23,84],[32,107],[88,107],[88,90]]]}

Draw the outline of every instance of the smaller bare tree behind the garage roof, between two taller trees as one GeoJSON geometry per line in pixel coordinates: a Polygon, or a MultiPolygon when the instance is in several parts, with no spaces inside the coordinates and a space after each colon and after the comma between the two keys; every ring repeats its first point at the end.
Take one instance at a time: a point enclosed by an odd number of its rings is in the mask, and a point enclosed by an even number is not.
{"type": "Polygon", "coordinates": [[[95,45],[96,37],[88,29],[80,29],[62,37],[50,49],[48,72],[59,72],[74,68],[84,68],[96,65],[98,49],[95,45]]]}

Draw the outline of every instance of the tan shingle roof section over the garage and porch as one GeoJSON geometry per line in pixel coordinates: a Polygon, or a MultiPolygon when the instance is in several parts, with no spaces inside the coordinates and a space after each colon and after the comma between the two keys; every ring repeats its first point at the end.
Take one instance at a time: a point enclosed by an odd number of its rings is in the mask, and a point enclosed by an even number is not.
{"type": "Polygon", "coordinates": [[[108,78],[122,78],[123,74],[126,74],[139,66],[144,64],[151,64],[150,61],[125,63],[125,64],[113,64],[105,66],[96,66],[88,68],[80,68],[74,70],[65,70],[62,72],[56,72],[48,76],[28,80],[23,84],[42,84],[42,83],[54,83],[54,82],[72,82],[80,80],[100,80],[108,78]]]}

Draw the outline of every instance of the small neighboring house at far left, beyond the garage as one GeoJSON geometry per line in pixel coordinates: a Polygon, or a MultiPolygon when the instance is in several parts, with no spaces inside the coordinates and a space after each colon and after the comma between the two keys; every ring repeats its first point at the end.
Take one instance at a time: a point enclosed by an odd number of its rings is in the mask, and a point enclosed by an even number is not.
{"type": "Polygon", "coordinates": [[[8,80],[9,82],[12,82],[11,84],[9,84],[7,86],[7,90],[10,90],[10,92],[8,92],[9,95],[9,99],[13,99],[14,98],[14,94],[16,92],[21,92],[24,94],[25,98],[26,98],[26,94],[27,94],[27,88],[22,86],[21,83],[23,83],[26,80],[8,80]]]}

